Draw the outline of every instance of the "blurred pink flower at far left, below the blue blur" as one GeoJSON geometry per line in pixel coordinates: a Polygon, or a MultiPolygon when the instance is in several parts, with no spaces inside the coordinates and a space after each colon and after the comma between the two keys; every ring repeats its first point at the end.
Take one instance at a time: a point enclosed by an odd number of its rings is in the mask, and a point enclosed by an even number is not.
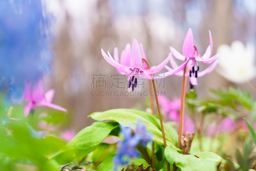
{"type": "Polygon", "coordinates": [[[34,109],[35,106],[51,107],[56,110],[67,112],[67,109],[59,105],[52,104],[52,99],[55,91],[54,89],[50,89],[46,93],[44,93],[44,87],[41,78],[39,78],[38,82],[34,85],[32,94],[30,92],[30,89],[31,82],[25,82],[24,98],[26,101],[28,101],[28,104],[24,108],[25,116],[28,116],[30,111],[34,109]]]}

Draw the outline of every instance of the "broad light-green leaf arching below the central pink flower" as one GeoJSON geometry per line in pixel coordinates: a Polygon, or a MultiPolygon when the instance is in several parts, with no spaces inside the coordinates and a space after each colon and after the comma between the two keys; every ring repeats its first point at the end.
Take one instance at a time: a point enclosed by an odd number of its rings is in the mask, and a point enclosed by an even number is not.
{"type": "MultiPolygon", "coordinates": [[[[158,145],[164,146],[162,132],[155,125],[157,123],[153,124],[151,121],[146,119],[150,118],[149,115],[150,114],[143,112],[141,112],[139,115],[127,109],[112,109],[105,112],[92,113],[90,117],[97,121],[114,120],[123,127],[131,127],[133,130],[135,129],[137,120],[140,120],[141,122],[146,124],[148,132],[153,134],[153,141],[158,145]],[[141,115],[144,115],[144,117],[142,117],[141,115]]],[[[151,118],[150,120],[153,119],[151,118]]],[[[166,144],[172,145],[177,151],[182,152],[182,150],[175,147],[175,145],[167,136],[166,144]]]]}

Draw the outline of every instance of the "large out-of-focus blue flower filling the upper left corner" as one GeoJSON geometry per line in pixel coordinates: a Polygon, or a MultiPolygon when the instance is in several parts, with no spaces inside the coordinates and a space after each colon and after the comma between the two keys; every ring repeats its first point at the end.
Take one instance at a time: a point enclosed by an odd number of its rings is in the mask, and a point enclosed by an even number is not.
{"type": "Polygon", "coordinates": [[[0,1],[0,90],[19,98],[24,82],[50,74],[50,20],[41,0],[0,1]]]}

